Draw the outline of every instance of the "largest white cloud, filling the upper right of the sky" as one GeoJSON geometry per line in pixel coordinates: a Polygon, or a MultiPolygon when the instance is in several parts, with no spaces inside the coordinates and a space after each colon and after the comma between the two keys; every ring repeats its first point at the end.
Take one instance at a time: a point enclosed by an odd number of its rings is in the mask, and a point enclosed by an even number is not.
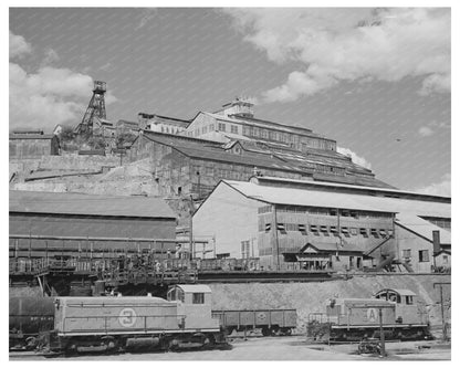
{"type": "Polygon", "coordinates": [[[269,60],[295,63],[264,102],[290,102],[341,81],[422,76],[419,93],[450,92],[449,9],[224,9],[269,60]]]}

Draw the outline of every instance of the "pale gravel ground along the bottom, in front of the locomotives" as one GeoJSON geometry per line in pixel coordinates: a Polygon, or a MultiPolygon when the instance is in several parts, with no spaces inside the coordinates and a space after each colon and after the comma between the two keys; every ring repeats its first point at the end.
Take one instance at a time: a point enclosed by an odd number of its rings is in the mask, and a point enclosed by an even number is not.
{"type": "MultiPolygon", "coordinates": [[[[305,337],[261,337],[233,339],[230,350],[145,353],[112,356],[79,356],[55,360],[380,360],[353,354],[356,345],[307,345],[305,337]]],[[[386,360],[450,360],[449,347],[437,341],[388,343],[386,360]],[[426,346],[429,348],[418,348],[426,346]]],[[[10,360],[45,360],[33,353],[10,353],[10,360]]]]}

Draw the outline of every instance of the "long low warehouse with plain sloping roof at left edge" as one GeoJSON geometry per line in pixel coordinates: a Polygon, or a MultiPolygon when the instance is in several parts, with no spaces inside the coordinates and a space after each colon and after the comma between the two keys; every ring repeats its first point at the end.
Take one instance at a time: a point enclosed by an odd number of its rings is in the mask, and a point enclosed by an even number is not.
{"type": "Polygon", "coordinates": [[[122,252],[176,248],[176,214],[159,198],[10,190],[9,214],[10,250],[25,246],[28,256],[35,248],[81,250],[88,243],[122,252]]]}

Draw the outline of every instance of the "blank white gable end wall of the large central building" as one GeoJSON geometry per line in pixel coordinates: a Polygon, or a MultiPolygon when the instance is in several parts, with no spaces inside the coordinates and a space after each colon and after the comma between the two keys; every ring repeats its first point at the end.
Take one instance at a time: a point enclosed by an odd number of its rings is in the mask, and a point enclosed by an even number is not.
{"type": "Polygon", "coordinates": [[[221,185],[195,213],[194,235],[216,236],[216,253],[230,253],[232,257],[241,257],[241,242],[249,241],[254,256],[259,256],[257,212],[260,206],[259,201],[221,185]]]}

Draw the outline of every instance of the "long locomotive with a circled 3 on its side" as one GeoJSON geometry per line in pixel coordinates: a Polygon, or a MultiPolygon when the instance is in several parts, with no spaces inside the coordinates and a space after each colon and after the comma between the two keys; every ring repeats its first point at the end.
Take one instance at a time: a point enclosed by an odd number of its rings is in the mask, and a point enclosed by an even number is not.
{"type": "Polygon", "coordinates": [[[54,353],[181,349],[224,343],[211,316],[206,285],[176,285],[167,299],[153,296],[56,297],[54,353]]]}

